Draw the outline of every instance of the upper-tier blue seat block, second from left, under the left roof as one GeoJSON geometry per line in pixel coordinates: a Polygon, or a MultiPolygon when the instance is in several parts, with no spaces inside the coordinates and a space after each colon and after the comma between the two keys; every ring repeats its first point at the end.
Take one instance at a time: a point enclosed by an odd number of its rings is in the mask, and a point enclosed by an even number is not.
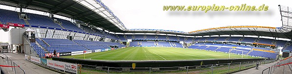
{"type": "Polygon", "coordinates": [[[48,16],[37,15],[32,13],[25,14],[30,18],[27,20],[30,25],[62,29],[62,27],[59,24],[54,23],[53,19],[51,19],[48,16]]]}

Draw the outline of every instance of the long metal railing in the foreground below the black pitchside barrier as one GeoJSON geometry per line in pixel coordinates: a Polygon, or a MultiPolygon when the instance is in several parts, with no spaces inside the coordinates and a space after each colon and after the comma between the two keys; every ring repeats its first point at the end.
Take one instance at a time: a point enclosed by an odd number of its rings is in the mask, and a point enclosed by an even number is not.
{"type": "Polygon", "coordinates": [[[246,61],[236,63],[211,64],[201,66],[183,66],[183,67],[102,67],[82,64],[81,73],[83,74],[119,74],[119,73],[138,73],[138,74],[169,74],[169,73],[184,73],[184,74],[229,74],[242,70],[256,67],[256,64],[266,64],[275,61],[274,59],[246,61]]]}

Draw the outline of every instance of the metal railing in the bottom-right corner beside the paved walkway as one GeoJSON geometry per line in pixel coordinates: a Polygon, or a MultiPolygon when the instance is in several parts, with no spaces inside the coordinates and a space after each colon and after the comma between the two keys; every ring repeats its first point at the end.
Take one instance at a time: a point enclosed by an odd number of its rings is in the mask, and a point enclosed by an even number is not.
{"type": "Polygon", "coordinates": [[[292,70],[290,64],[292,64],[292,57],[285,58],[285,59],[281,60],[280,62],[277,62],[277,63],[273,64],[271,67],[266,68],[265,70],[263,70],[262,74],[272,74],[276,70],[283,70],[283,73],[285,74],[285,65],[289,65],[290,70],[292,70]],[[281,66],[283,66],[283,69],[280,68],[281,66]],[[268,69],[269,69],[269,71],[267,71],[268,69]]]}

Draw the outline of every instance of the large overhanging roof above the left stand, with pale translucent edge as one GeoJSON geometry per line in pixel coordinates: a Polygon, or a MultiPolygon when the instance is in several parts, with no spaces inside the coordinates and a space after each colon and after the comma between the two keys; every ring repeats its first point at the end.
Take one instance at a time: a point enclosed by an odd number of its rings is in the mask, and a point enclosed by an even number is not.
{"type": "Polygon", "coordinates": [[[110,32],[126,30],[124,24],[100,0],[0,0],[0,4],[81,20],[110,32]]]}

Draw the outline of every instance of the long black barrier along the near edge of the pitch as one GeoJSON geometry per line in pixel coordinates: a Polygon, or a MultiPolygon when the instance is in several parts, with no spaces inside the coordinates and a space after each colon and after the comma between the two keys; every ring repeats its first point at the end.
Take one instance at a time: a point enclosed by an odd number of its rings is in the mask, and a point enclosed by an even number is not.
{"type": "MultiPolygon", "coordinates": [[[[104,61],[104,60],[85,60],[64,57],[52,57],[53,60],[82,64],[83,66],[100,66],[100,67],[184,67],[184,66],[202,66],[211,64],[247,62],[265,60],[264,58],[244,58],[244,59],[204,59],[204,60],[155,60],[155,61],[104,61]]],[[[87,67],[88,68],[88,67],[87,67]]]]}

